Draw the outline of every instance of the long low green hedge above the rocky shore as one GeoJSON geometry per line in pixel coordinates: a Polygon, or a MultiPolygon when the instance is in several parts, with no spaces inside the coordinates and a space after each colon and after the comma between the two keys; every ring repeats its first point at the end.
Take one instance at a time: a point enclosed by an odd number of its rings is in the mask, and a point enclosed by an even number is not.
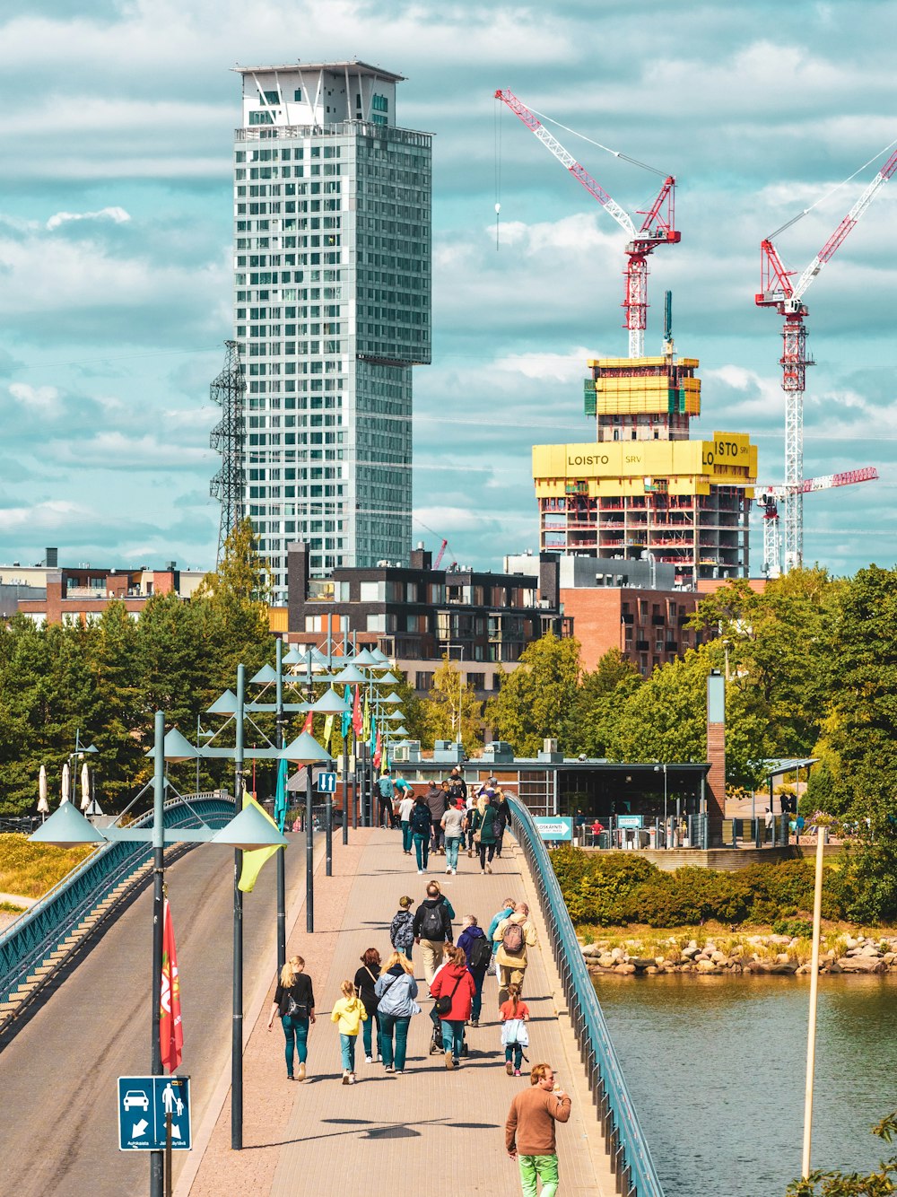
{"type": "MultiPolygon", "coordinates": [[[[567,910],[574,923],[621,926],[694,926],[720,923],[773,923],[811,915],[813,865],[808,861],[753,864],[740,873],[692,865],[663,873],[642,856],[602,855],[561,847],[551,853],[567,910]]],[[[823,916],[843,918],[843,879],[826,869],[823,916]]]]}

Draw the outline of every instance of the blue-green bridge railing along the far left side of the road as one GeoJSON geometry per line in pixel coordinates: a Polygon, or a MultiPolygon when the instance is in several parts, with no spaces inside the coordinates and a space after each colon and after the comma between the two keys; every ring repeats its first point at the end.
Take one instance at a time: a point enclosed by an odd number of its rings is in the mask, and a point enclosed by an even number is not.
{"type": "MultiPolygon", "coordinates": [[[[152,812],[134,827],[152,822],[152,812]]],[[[233,798],[224,791],[172,798],[164,807],[165,827],[224,826],[233,818],[233,798]]],[[[0,935],[0,1003],[8,1001],[41,965],[124,877],[152,856],[152,845],[134,840],[102,844],[0,935]]]]}

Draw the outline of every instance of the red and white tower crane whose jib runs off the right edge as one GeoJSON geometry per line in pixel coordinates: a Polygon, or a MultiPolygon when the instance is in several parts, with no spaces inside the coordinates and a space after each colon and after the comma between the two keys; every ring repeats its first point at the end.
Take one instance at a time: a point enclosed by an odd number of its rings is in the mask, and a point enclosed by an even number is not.
{"type": "MultiPolygon", "coordinates": [[[[869,206],[879,188],[887,182],[895,171],[897,171],[897,152],[891,154],[887,163],[875,175],[797,282],[792,281],[797,271],[787,271],[785,268],[779,251],[773,244],[773,238],[762,241],[759,245],[761,291],[759,294],[755,296],[755,300],[759,308],[775,308],[780,316],[785,316],[785,327],[782,329],[782,340],[785,344],[782,356],[779,360],[782,366],[782,390],[786,395],[785,493],[781,496],[785,505],[783,569],[786,573],[792,569],[799,567],[804,558],[804,494],[807,490],[804,487],[804,390],[806,384],[806,367],[813,365],[812,358],[808,358],[806,354],[807,332],[804,327],[804,318],[807,315],[807,309],[803,302],[804,294],[822,268],[831,261],[836,250],[869,206]]],[[[785,225],[785,227],[788,227],[788,225],[785,225]]],[[[856,472],[850,470],[849,473],[856,472]]],[[[844,475],[834,474],[831,476],[841,478],[844,475]]],[[[868,479],[850,479],[850,481],[868,481],[868,479]]],[[[810,490],[814,490],[814,487],[810,487],[810,490]]],[[[765,524],[763,543],[765,555],[765,524]]]]}

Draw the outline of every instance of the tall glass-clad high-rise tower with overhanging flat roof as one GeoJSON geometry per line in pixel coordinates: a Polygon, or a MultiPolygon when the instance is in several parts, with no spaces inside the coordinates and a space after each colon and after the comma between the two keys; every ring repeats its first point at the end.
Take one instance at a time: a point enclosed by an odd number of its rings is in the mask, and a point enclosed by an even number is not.
{"type": "Polygon", "coordinates": [[[408,560],[411,367],[431,359],[431,135],[364,62],[237,67],[234,334],[244,505],[287,601],[312,576],[408,560]]]}

